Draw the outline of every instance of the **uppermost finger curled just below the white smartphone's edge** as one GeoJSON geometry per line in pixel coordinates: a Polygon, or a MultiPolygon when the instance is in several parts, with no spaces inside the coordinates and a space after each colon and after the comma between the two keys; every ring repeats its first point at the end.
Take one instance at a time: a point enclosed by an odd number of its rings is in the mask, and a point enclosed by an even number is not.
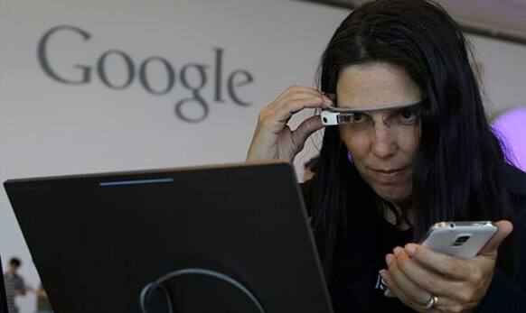
{"type": "Polygon", "coordinates": [[[421,244],[408,244],[406,250],[418,264],[450,279],[465,281],[472,271],[469,262],[444,253],[437,253],[421,244]]]}

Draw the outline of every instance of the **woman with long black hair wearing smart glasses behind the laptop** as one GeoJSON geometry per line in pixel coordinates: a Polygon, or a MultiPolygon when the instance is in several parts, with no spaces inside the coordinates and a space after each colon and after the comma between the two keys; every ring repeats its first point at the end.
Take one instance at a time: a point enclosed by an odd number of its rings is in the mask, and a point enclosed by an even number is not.
{"type": "Polygon", "coordinates": [[[261,110],[248,161],[292,161],[323,127],[314,115],[288,128],[305,108],[360,112],[324,129],[303,186],[336,312],[526,311],[524,244],[514,244],[526,240],[526,180],[505,163],[468,51],[440,6],[375,1],[329,41],[320,90],[288,87],[261,110]],[[446,220],[499,230],[469,260],[416,244],[446,220]]]}

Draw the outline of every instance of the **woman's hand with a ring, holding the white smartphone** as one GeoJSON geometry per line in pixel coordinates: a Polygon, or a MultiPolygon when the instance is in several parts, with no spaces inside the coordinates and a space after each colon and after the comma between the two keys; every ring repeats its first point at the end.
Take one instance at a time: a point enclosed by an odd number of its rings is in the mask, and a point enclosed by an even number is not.
{"type": "Polygon", "coordinates": [[[493,277],[497,250],[512,233],[512,223],[499,221],[497,233],[472,259],[436,253],[419,244],[396,247],[386,255],[380,275],[390,292],[418,312],[470,312],[480,303],[493,277]],[[432,297],[433,308],[426,308],[432,297]]]}

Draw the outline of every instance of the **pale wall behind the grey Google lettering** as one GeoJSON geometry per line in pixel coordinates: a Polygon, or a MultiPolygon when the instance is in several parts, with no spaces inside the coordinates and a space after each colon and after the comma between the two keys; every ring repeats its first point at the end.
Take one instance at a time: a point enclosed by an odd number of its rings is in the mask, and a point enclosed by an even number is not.
{"type": "MultiPolygon", "coordinates": [[[[242,161],[258,111],[289,85],[314,85],[324,45],[347,11],[287,0],[3,0],[0,2],[0,180],[136,170],[242,161]],[[44,32],[71,25],[89,32],[57,32],[49,41],[50,62],[61,76],[92,80],[66,85],[48,77],[37,58],[44,32]],[[214,53],[223,51],[223,103],[214,101],[214,53]],[[123,90],[105,87],[97,60],[108,50],[124,51],[136,67],[161,56],[175,69],[174,88],[155,96],[137,78],[123,90]],[[191,94],[181,84],[181,68],[206,64],[202,90],[210,111],[190,124],[174,114],[174,104],[191,94]],[[251,83],[237,87],[249,106],[239,106],[225,86],[228,75],[247,70],[251,83]]],[[[474,37],[484,63],[492,112],[524,105],[526,47],[474,37]]],[[[126,79],[122,60],[108,57],[108,79],[126,79]]],[[[166,74],[151,64],[148,81],[162,88],[166,74]]],[[[199,77],[190,72],[195,83],[199,77]]],[[[238,77],[242,78],[242,76],[238,77]]],[[[190,112],[199,115],[200,106],[190,112]]],[[[187,112],[188,113],[188,112],[187,112]]],[[[297,122],[297,119],[294,121],[297,122]]],[[[314,153],[302,154],[303,161],[314,153]]],[[[5,195],[0,190],[0,251],[23,259],[22,274],[33,286],[38,275],[5,195]]],[[[4,260],[5,262],[6,260],[4,260]]],[[[21,301],[33,311],[34,298],[21,301]]]]}

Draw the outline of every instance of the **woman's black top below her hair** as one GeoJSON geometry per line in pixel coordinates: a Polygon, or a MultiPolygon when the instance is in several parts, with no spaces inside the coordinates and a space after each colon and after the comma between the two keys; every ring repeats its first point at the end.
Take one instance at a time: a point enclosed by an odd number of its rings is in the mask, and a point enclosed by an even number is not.
{"type": "MultiPolygon", "coordinates": [[[[511,279],[495,269],[490,288],[476,309],[480,313],[526,312],[526,173],[507,167],[505,175],[515,213],[517,276],[511,279]]],[[[302,185],[307,207],[313,205],[311,188],[309,182],[302,185]]],[[[385,287],[379,279],[380,269],[386,268],[385,255],[412,241],[411,230],[399,231],[380,215],[353,227],[341,256],[344,266],[329,284],[334,312],[415,312],[399,299],[383,296],[385,287]]]]}

